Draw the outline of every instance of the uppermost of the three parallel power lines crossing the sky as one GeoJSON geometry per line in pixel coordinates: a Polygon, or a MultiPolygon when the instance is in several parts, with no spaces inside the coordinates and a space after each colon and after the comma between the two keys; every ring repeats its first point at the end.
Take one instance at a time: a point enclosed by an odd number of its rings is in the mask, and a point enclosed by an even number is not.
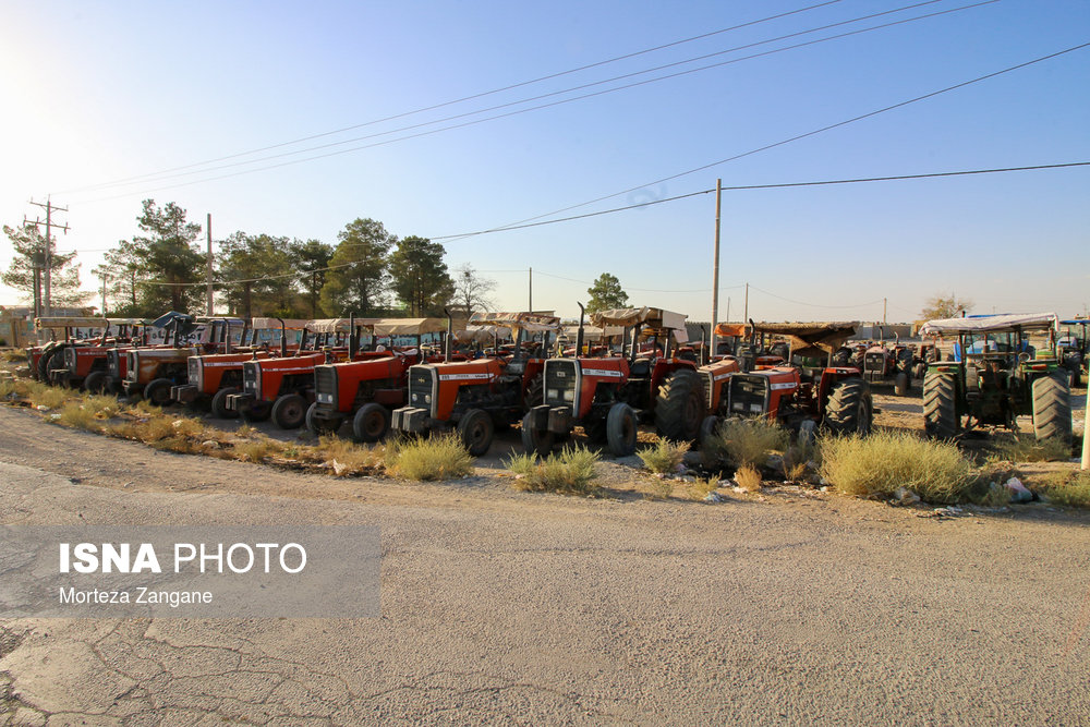
{"type": "MultiPolygon", "coordinates": [[[[806,8],[800,8],[799,10],[792,10],[792,11],[788,11],[788,12],[784,12],[784,13],[778,13],[776,15],[768,15],[767,17],[762,17],[760,20],[749,21],[747,23],[741,23],[741,24],[738,24],[738,25],[732,25],[730,27],[719,28],[718,31],[712,31],[710,33],[702,33],[700,35],[695,35],[695,36],[692,36],[692,37],[689,37],[689,38],[682,38],[680,40],[674,40],[674,41],[666,43],[666,44],[663,44],[663,45],[659,45],[659,46],[654,46],[652,48],[645,48],[643,50],[638,50],[638,51],[633,51],[633,52],[630,52],[630,53],[625,53],[622,56],[616,56],[614,58],[609,58],[609,59],[602,60],[602,61],[596,61],[594,63],[588,63],[586,65],[580,65],[580,66],[577,66],[577,68],[573,68],[573,69],[569,69],[567,71],[559,71],[557,73],[549,73],[547,75],[538,76],[536,78],[531,78],[529,81],[521,81],[519,83],[513,83],[513,84],[510,84],[510,85],[507,85],[507,86],[502,86],[500,88],[494,88],[492,90],[485,90],[485,92],[472,94],[470,96],[463,96],[461,98],[456,98],[453,100],[443,101],[443,102],[439,102],[439,104],[434,104],[432,106],[426,106],[426,107],[423,107],[423,108],[414,109],[412,111],[403,111],[401,113],[396,113],[393,116],[388,116],[388,117],[385,117],[385,118],[382,118],[382,119],[373,119],[371,121],[365,121],[365,122],[362,122],[362,123],[352,124],[350,126],[343,126],[341,129],[335,129],[332,131],[326,131],[326,132],[320,132],[320,133],[317,133],[317,134],[312,134],[310,136],[303,136],[303,137],[300,137],[300,138],[292,140],[290,142],[281,142],[279,144],[271,144],[269,146],[263,146],[263,147],[259,147],[259,148],[256,148],[256,149],[250,149],[247,152],[239,152],[237,154],[230,154],[230,155],[226,155],[226,156],[222,156],[222,157],[217,157],[217,158],[214,158],[214,159],[206,159],[205,161],[197,161],[197,162],[194,162],[194,163],[191,163],[191,165],[185,165],[185,166],[182,166],[182,167],[173,167],[173,168],[165,169],[165,170],[161,170],[161,171],[158,171],[158,172],[150,172],[150,173],[147,173],[147,174],[140,174],[140,175],[136,175],[136,177],[129,177],[129,178],[121,179],[121,180],[114,180],[112,182],[102,182],[100,184],[93,184],[93,185],[88,185],[88,186],[76,187],[74,190],[68,190],[68,191],[65,191],[63,193],[82,192],[82,191],[85,191],[85,190],[101,189],[101,187],[107,187],[107,186],[113,186],[113,185],[118,185],[118,184],[123,184],[123,183],[126,183],[126,182],[140,181],[140,180],[144,180],[144,179],[147,179],[147,178],[159,177],[161,174],[168,174],[168,173],[175,172],[175,171],[182,171],[182,170],[185,170],[185,169],[192,169],[194,167],[203,167],[205,165],[217,163],[219,161],[226,161],[228,159],[237,159],[239,157],[250,156],[252,154],[261,154],[262,152],[269,152],[271,149],[282,148],[284,146],[291,146],[293,144],[301,144],[303,142],[310,142],[310,141],[313,141],[313,140],[316,140],[316,138],[323,138],[323,137],[326,137],[326,136],[332,136],[335,134],[341,134],[343,132],[353,131],[355,129],[363,129],[365,126],[373,126],[375,124],[385,123],[387,121],[396,121],[398,119],[403,119],[405,117],[415,116],[415,114],[419,114],[419,113],[424,113],[426,111],[434,111],[436,109],[445,108],[445,107],[448,107],[448,106],[455,106],[457,104],[462,104],[464,101],[471,101],[471,100],[475,100],[475,99],[479,99],[479,98],[484,98],[484,97],[487,97],[487,96],[494,96],[496,94],[501,94],[501,93],[507,92],[507,90],[513,90],[514,88],[521,88],[523,86],[530,86],[530,85],[533,85],[533,84],[536,84],[536,83],[542,83],[544,81],[552,81],[553,78],[559,78],[559,77],[562,77],[562,76],[566,76],[566,75],[571,75],[571,74],[574,74],[574,73],[579,73],[581,71],[588,71],[588,70],[593,69],[593,68],[598,68],[598,66],[602,66],[602,65],[608,65],[609,63],[616,63],[618,61],[628,60],[630,58],[637,58],[639,56],[645,56],[647,53],[653,53],[653,52],[656,52],[656,51],[659,51],[659,50],[665,50],[667,48],[673,48],[673,47],[676,47],[676,46],[681,46],[681,45],[685,45],[685,44],[688,44],[688,43],[693,43],[693,41],[697,41],[697,40],[703,40],[704,38],[710,38],[710,37],[713,37],[713,36],[716,36],[716,35],[722,35],[724,33],[729,33],[731,31],[738,31],[738,29],[741,29],[741,28],[744,28],[744,27],[750,27],[750,26],[753,26],[753,25],[760,25],[762,23],[767,23],[767,22],[771,22],[771,21],[774,21],[774,20],[780,20],[783,17],[788,17],[790,15],[797,15],[797,14],[804,13],[804,12],[808,12],[808,11],[811,11],[811,10],[815,10],[818,8],[824,8],[826,5],[834,5],[834,4],[837,4],[838,2],[841,2],[841,1],[843,0],[826,0],[825,2],[819,2],[818,4],[808,5],[806,8]]],[[[931,0],[931,1],[932,2],[940,2],[942,0],[931,0]]]]}

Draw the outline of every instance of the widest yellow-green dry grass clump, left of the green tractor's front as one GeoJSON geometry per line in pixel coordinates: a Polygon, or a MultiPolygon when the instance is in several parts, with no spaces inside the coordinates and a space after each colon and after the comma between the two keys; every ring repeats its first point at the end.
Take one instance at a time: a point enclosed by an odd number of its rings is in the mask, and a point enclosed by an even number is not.
{"type": "Polygon", "coordinates": [[[856,497],[886,497],[907,487],[929,502],[956,502],[976,481],[972,464],[955,445],[911,434],[828,437],[821,451],[822,476],[856,497]]]}

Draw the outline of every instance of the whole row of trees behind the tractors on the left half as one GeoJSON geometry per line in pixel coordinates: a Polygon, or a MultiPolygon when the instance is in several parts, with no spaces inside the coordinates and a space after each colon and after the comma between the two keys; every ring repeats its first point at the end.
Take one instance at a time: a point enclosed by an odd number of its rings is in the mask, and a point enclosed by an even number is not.
{"type": "MultiPolygon", "coordinates": [[[[204,313],[207,254],[202,227],[173,202],[145,199],[137,234],[121,240],[93,274],[106,280],[111,316],[152,317],[164,311],[204,313]]],[[[48,244],[53,307],[78,307],[95,293],[80,289],[75,253],[58,254],[33,225],[4,226],[14,256],[0,275],[4,284],[34,296],[34,268],[44,265],[48,244]]],[[[217,301],[242,317],[282,318],[441,315],[493,305],[495,283],[465,264],[451,272],[440,243],[398,238],[382,222],[356,219],[337,233],[337,244],[238,231],[220,241],[214,257],[217,301]]]]}

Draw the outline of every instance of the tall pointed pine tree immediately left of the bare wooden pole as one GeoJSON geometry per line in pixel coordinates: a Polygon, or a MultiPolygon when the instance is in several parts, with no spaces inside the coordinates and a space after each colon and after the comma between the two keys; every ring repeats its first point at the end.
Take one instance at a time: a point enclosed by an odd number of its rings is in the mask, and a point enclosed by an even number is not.
{"type": "Polygon", "coordinates": [[[185,210],[168,202],[157,207],[154,199],[145,199],[136,225],[143,232],[122,250],[131,255],[141,278],[141,314],[158,315],[164,308],[185,313],[197,307],[204,288],[191,283],[204,278],[207,258],[194,244],[201,226],[185,221],[185,210]]]}

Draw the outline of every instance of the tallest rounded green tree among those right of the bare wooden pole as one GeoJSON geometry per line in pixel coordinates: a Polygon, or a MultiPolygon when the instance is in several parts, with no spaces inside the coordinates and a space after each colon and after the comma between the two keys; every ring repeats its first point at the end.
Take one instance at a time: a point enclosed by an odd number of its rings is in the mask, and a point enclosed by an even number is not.
{"type": "Polygon", "coordinates": [[[329,316],[384,312],[389,288],[387,256],[397,238],[373,219],[356,219],[337,233],[337,249],[322,286],[322,310],[329,316]]]}

